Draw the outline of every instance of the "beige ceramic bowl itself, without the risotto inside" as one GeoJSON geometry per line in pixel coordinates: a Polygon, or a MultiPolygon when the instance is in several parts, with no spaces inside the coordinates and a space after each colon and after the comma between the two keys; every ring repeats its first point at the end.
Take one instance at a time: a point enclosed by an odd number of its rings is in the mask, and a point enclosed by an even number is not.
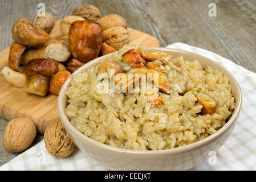
{"type": "MultiPolygon", "coordinates": [[[[80,148],[89,158],[96,160],[102,166],[114,170],[185,170],[197,166],[203,160],[209,158],[209,152],[215,151],[224,144],[230,136],[235,126],[235,121],[242,105],[241,89],[235,78],[220,64],[208,59],[207,57],[196,53],[182,51],[179,49],[170,48],[144,48],[144,51],[164,51],[173,56],[183,56],[185,60],[198,60],[203,67],[210,66],[214,69],[224,71],[229,78],[232,86],[232,93],[235,98],[235,109],[229,121],[217,133],[210,135],[208,138],[198,142],[189,144],[188,146],[178,147],[168,150],[158,151],[136,151],[125,150],[122,148],[108,146],[92,140],[86,135],[83,135],[74,126],[65,114],[67,106],[66,91],[70,86],[70,78],[64,83],[58,97],[58,110],[60,119],[67,130],[68,135],[74,141],[76,146],[80,148]]],[[[108,56],[108,55],[105,55],[108,56]]],[[[83,65],[75,73],[83,72],[92,67],[105,56],[98,57],[95,60],[83,65]]]]}

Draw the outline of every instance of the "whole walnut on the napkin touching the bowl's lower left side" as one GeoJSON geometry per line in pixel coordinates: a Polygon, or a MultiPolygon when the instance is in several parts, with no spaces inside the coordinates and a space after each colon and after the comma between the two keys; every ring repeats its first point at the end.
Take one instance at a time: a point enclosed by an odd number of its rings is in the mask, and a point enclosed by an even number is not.
{"type": "Polygon", "coordinates": [[[66,130],[64,129],[62,122],[51,123],[44,133],[44,143],[46,150],[52,155],[58,158],[66,158],[72,154],[75,149],[75,144],[71,138],[68,137],[66,130]]]}

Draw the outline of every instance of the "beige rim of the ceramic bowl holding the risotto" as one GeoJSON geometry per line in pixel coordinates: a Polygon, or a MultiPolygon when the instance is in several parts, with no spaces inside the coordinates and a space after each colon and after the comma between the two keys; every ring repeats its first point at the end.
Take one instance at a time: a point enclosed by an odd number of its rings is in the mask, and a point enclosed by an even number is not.
{"type": "MultiPolygon", "coordinates": [[[[192,54],[195,56],[200,57],[201,59],[206,59],[210,62],[212,62],[213,64],[216,64],[217,67],[220,67],[222,71],[224,71],[224,74],[226,76],[229,77],[229,79],[231,78],[233,80],[233,85],[234,88],[237,88],[238,90],[238,97],[237,100],[235,100],[236,104],[235,104],[235,108],[233,111],[233,114],[231,115],[229,121],[226,122],[226,124],[224,126],[221,127],[220,130],[218,130],[216,133],[210,135],[207,138],[204,138],[202,140],[199,140],[197,142],[188,144],[186,146],[182,146],[182,147],[177,147],[177,148],[170,148],[170,149],[165,149],[165,150],[151,150],[151,151],[143,151],[143,150],[129,150],[129,149],[125,149],[125,148],[118,148],[118,147],[113,147],[113,146],[109,146],[107,144],[103,144],[100,142],[97,142],[94,139],[91,139],[89,137],[87,137],[86,135],[80,133],[80,131],[78,131],[71,123],[70,120],[68,119],[66,113],[65,113],[65,109],[66,109],[66,102],[65,102],[65,98],[66,93],[65,90],[67,90],[70,81],[71,81],[71,77],[69,77],[66,82],[63,84],[62,89],[60,89],[59,92],[59,96],[58,96],[58,111],[59,111],[59,117],[60,120],[63,123],[63,126],[65,127],[65,129],[68,131],[68,133],[72,133],[72,136],[75,135],[76,137],[80,138],[80,140],[83,140],[84,143],[88,143],[94,146],[97,146],[101,149],[104,150],[109,150],[112,151],[116,154],[136,154],[136,155],[174,155],[174,154],[182,154],[185,152],[189,152],[189,151],[193,151],[196,150],[197,148],[201,148],[202,146],[206,146],[209,143],[212,143],[214,140],[218,139],[219,137],[221,137],[221,135],[223,135],[229,128],[231,125],[234,124],[234,122],[236,121],[236,119],[238,118],[239,112],[241,110],[241,106],[242,106],[242,92],[241,92],[241,88],[237,82],[237,80],[235,80],[235,78],[233,77],[233,75],[227,71],[226,68],[224,68],[221,64],[217,63],[216,61],[213,61],[212,59],[202,56],[198,53],[194,53],[194,52],[190,52],[190,51],[185,51],[182,49],[175,49],[175,48],[162,48],[162,47],[154,47],[154,48],[143,48],[143,50],[145,51],[174,51],[174,52],[181,52],[181,53],[186,53],[186,54],[192,54]]],[[[87,69],[88,67],[90,68],[91,66],[93,66],[94,64],[96,64],[97,61],[104,59],[105,57],[111,55],[112,53],[109,53],[108,55],[104,55],[101,57],[97,57],[96,59],[88,62],[87,64],[84,64],[82,67],[80,67],[78,70],[76,70],[74,73],[79,73],[82,72],[84,69],[87,69]]],[[[78,146],[79,147],[79,146],[78,146]]]]}

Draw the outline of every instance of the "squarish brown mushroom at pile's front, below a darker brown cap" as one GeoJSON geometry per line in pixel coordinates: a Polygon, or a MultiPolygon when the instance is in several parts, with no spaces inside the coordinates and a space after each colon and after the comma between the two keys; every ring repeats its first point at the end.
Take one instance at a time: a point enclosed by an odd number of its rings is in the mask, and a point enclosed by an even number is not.
{"type": "Polygon", "coordinates": [[[40,74],[27,76],[25,83],[25,91],[28,93],[45,96],[50,85],[50,77],[40,74]]]}

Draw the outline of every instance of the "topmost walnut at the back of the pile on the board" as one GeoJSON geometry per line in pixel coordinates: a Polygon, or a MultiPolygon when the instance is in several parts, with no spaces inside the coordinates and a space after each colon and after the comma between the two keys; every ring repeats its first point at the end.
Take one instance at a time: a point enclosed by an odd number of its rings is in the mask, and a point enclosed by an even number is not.
{"type": "Polygon", "coordinates": [[[88,21],[96,23],[100,18],[100,10],[94,5],[84,5],[77,7],[72,15],[81,16],[88,21]]]}

